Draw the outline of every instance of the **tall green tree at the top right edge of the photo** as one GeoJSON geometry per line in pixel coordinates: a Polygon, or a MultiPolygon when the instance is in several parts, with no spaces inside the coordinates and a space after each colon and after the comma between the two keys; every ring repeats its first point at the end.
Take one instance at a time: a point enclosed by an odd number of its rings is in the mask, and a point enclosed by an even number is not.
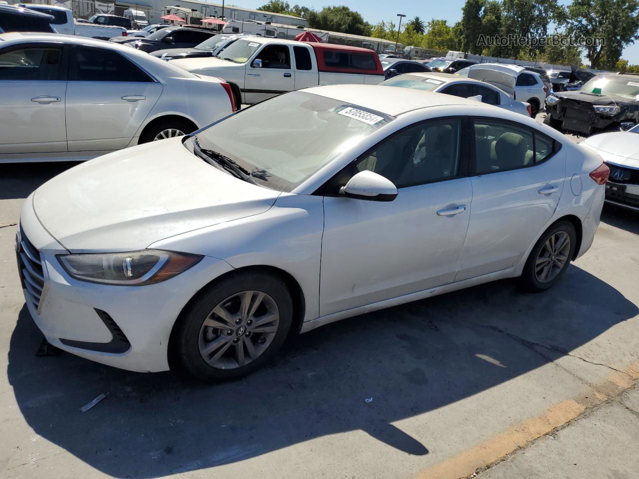
{"type": "Polygon", "coordinates": [[[615,68],[624,47],[639,38],[637,0],[573,0],[568,6],[567,29],[585,45],[590,68],[615,68]],[[599,38],[603,41],[593,42],[599,38]]]}

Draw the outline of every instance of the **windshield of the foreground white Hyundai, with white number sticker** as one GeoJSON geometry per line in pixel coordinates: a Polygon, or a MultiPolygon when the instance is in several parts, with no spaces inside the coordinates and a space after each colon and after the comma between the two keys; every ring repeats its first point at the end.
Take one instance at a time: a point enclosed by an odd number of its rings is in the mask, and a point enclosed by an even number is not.
{"type": "Polygon", "coordinates": [[[204,150],[227,156],[259,185],[291,192],[392,116],[293,91],[240,110],[197,133],[204,150]]]}

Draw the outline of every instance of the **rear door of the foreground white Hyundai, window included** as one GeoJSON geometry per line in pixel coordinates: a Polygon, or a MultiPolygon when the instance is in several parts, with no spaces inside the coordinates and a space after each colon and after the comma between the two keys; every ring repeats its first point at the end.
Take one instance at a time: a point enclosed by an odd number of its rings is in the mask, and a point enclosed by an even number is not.
{"type": "Polygon", "coordinates": [[[457,281],[514,266],[557,209],[566,156],[550,137],[507,121],[471,128],[473,202],[457,281]]]}

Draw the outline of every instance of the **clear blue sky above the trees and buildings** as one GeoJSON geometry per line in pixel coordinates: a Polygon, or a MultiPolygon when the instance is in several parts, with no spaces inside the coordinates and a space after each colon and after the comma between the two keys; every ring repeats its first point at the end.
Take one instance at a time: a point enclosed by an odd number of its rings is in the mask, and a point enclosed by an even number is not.
{"type": "MultiPolygon", "coordinates": [[[[237,4],[247,8],[258,8],[266,3],[267,0],[236,0],[229,3],[237,4]]],[[[217,0],[216,3],[219,3],[217,0]]],[[[461,7],[464,0],[445,0],[439,2],[429,2],[417,0],[404,0],[392,5],[390,1],[380,0],[350,0],[343,1],[317,1],[317,0],[288,0],[291,5],[300,4],[316,10],[328,5],[346,4],[351,10],[356,10],[362,14],[364,20],[370,23],[377,23],[381,20],[392,20],[397,25],[397,13],[404,13],[407,19],[411,19],[417,15],[422,20],[446,19],[449,24],[454,24],[461,19],[461,7]]],[[[561,4],[569,4],[567,0],[560,0],[561,4]]],[[[624,50],[623,57],[631,64],[639,64],[639,44],[630,45],[624,50]]]]}

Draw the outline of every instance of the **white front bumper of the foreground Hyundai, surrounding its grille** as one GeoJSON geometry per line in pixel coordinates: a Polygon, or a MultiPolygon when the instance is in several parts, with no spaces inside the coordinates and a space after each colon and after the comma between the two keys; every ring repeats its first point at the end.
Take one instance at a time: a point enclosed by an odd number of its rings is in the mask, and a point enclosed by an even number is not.
{"type": "MultiPolygon", "coordinates": [[[[233,268],[204,257],[181,275],[153,285],[78,281],[59,264],[56,255],[66,250],[42,227],[31,201],[29,197],[22,209],[19,235],[39,255],[43,288],[39,300],[23,289],[29,313],[47,340],[69,353],[121,369],[169,369],[169,337],[181,310],[204,285],[233,268]]],[[[24,285],[24,275],[21,280],[24,285]]]]}

